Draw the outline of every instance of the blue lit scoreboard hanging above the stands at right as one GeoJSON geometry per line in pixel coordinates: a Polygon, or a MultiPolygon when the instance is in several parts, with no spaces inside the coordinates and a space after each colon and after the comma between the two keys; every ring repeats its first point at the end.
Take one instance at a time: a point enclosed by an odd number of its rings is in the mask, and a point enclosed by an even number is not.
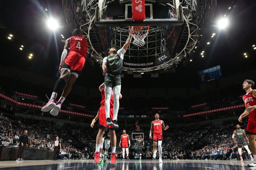
{"type": "Polygon", "coordinates": [[[210,69],[198,71],[198,75],[201,83],[206,83],[212,80],[222,78],[222,73],[220,70],[220,65],[212,67],[210,69]]]}

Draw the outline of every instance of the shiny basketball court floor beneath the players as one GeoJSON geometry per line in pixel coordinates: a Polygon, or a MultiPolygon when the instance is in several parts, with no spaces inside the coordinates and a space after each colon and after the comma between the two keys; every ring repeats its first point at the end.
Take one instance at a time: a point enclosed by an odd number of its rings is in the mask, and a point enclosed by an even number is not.
{"type": "Polygon", "coordinates": [[[23,161],[1,161],[0,169],[8,170],[53,170],[53,169],[86,169],[86,170],[194,170],[194,169],[229,169],[245,170],[256,169],[248,167],[251,161],[222,161],[222,160],[163,160],[159,164],[158,160],[117,160],[116,165],[107,164],[97,165],[93,160],[23,160],[23,161]]]}

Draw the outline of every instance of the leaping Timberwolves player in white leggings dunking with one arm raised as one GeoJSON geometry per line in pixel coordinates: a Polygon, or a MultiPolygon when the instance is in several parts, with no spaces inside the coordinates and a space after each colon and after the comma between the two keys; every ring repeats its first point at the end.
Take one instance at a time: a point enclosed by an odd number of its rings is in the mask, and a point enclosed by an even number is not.
{"type": "Polygon", "coordinates": [[[118,109],[119,109],[119,94],[121,92],[121,77],[120,73],[123,69],[124,53],[129,47],[132,41],[132,36],[129,35],[124,46],[116,52],[116,48],[110,48],[108,50],[108,56],[103,58],[102,70],[103,76],[105,76],[105,109],[106,109],[106,121],[107,125],[115,126],[118,128],[116,122],[118,109]],[[109,101],[111,92],[113,90],[114,97],[114,116],[110,119],[109,115],[109,101]]]}

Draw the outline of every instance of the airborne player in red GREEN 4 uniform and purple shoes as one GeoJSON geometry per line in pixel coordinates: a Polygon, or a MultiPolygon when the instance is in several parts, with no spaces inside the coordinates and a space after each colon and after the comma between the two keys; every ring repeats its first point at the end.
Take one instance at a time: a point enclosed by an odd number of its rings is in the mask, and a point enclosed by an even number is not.
{"type": "Polygon", "coordinates": [[[87,41],[83,36],[82,31],[80,29],[75,29],[73,31],[72,37],[69,37],[65,41],[64,49],[60,59],[60,78],[55,83],[53,88],[52,96],[50,100],[42,107],[41,111],[48,112],[50,111],[51,115],[57,116],[61,104],[68,96],[68,93],[71,91],[72,85],[76,78],[78,78],[79,74],[83,70],[85,58],[87,54],[87,41]],[[70,48],[68,53],[68,48],[70,48]],[[69,75],[69,72],[71,74],[69,75]],[[68,77],[69,75],[69,77],[68,77]],[[67,79],[67,83],[65,85],[65,80],[67,79]],[[60,100],[56,102],[57,92],[63,88],[65,85],[60,100]]]}

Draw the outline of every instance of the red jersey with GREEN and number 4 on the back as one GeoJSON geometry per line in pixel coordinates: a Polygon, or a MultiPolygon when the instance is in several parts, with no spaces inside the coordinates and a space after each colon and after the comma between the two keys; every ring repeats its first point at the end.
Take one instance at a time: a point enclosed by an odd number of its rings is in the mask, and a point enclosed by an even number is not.
{"type": "Polygon", "coordinates": [[[86,38],[84,36],[73,36],[73,37],[69,37],[70,38],[70,42],[69,42],[69,52],[71,51],[76,51],[78,53],[80,53],[81,55],[83,55],[86,58],[86,54],[87,54],[87,42],[86,42],[86,38]]]}

